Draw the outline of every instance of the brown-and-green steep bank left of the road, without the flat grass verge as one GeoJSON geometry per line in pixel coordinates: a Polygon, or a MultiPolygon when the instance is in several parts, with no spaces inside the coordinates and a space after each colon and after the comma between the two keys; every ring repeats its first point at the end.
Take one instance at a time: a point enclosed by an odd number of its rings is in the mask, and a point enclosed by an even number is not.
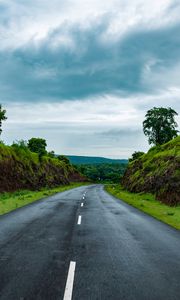
{"type": "Polygon", "coordinates": [[[26,147],[0,144],[0,192],[53,188],[71,181],[80,182],[81,177],[63,160],[49,156],[40,159],[26,147]]]}

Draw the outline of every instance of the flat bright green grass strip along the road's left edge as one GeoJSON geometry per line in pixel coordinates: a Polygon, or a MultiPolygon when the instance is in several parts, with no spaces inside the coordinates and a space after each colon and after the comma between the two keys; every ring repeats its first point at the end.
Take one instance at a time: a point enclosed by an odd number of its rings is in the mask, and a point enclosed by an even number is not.
{"type": "Polygon", "coordinates": [[[53,189],[44,188],[40,191],[20,190],[14,193],[0,194],[0,215],[6,214],[19,207],[40,200],[53,194],[64,192],[72,188],[85,185],[85,183],[72,183],[70,185],[59,186],[53,189]]]}

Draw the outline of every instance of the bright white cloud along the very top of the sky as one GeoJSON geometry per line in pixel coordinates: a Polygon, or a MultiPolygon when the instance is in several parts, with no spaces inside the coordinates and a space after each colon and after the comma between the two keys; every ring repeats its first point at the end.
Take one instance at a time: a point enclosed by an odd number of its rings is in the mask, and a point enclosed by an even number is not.
{"type": "MultiPolygon", "coordinates": [[[[91,27],[105,16],[107,38],[121,36],[134,27],[157,27],[176,22],[172,0],[66,0],[0,1],[1,49],[16,48],[30,40],[40,41],[49,31],[64,26],[91,27]]],[[[67,33],[68,34],[68,33],[67,33]]],[[[105,38],[105,37],[104,37],[105,38]]]]}

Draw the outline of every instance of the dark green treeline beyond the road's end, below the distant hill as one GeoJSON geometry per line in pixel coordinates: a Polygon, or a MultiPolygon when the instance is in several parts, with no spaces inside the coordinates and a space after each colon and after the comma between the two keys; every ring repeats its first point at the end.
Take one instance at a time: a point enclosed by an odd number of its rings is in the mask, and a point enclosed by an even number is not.
{"type": "Polygon", "coordinates": [[[87,176],[93,182],[120,183],[120,180],[126,170],[125,163],[102,163],[102,164],[82,164],[76,165],[76,168],[84,176],[87,176]]]}

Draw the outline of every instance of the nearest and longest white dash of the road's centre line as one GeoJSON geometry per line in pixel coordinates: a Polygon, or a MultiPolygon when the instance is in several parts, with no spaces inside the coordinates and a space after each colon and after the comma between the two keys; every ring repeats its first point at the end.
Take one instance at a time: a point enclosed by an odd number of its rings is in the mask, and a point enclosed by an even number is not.
{"type": "Polygon", "coordinates": [[[76,269],[76,262],[71,261],[70,265],[69,265],[68,277],[67,277],[67,281],[66,281],[66,287],[65,287],[65,291],[64,291],[63,300],[71,300],[72,299],[75,269],[76,269]]]}

